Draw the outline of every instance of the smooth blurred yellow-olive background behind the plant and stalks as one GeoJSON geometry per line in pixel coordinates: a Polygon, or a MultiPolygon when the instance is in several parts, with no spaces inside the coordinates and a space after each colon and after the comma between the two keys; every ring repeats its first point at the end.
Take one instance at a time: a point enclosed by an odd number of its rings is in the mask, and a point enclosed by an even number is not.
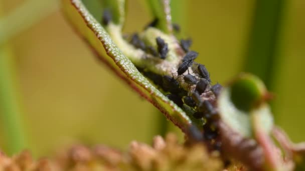
{"type": "MultiPolygon", "coordinates": [[[[8,17],[27,1],[30,0],[0,0],[1,18],[8,17]]],[[[11,60],[27,148],[41,156],[77,142],[104,143],[122,149],[133,139],[149,143],[159,133],[159,115],[154,106],[94,57],[66,22],[57,0],[31,1],[33,10],[22,11],[5,25],[0,22],[0,30],[7,31],[0,35],[10,35],[14,29],[4,28],[18,19],[33,17],[33,12],[37,18],[44,16],[34,19],[29,26],[14,25],[24,29],[9,40],[0,41],[1,50],[10,45],[14,54],[11,60]]],[[[125,32],[140,31],[152,19],[141,2],[128,0],[125,32]]],[[[200,53],[197,61],[207,66],[213,82],[224,84],[247,70],[245,54],[256,0],[185,3],[185,8],[180,9],[186,13],[182,32],[193,38],[192,49],[200,53]]],[[[286,0],[275,48],[276,67],[269,87],[275,94],[272,101],[275,122],[294,141],[305,140],[304,16],[304,0],[286,0]]],[[[3,116],[4,106],[0,107],[3,116]]],[[[6,143],[4,119],[0,119],[0,149],[6,151],[11,142],[6,143]]]]}

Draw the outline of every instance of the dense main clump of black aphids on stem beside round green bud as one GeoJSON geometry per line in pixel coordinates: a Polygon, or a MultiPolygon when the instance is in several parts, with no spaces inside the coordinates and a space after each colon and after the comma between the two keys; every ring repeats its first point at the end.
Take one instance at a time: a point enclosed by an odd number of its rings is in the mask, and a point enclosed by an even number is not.
{"type": "MultiPolygon", "coordinates": [[[[183,109],[194,118],[204,120],[202,137],[198,137],[198,132],[192,132],[194,136],[196,135],[194,138],[203,139],[210,149],[220,150],[221,142],[217,125],[219,114],[216,109],[216,97],[219,95],[222,86],[219,83],[211,85],[210,74],[205,65],[194,61],[197,56],[197,52],[188,50],[177,70],[178,75],[183,77],[185,83],[196,85],[190,95],[182,97],[183,109]],[[190,67],[194,72],[193,74],[189,71],[190,67]],[[188,74],[184,74],[185,72],[188,74]]],[[[178,105],[182,105],[180,101],[178,105]]],[[[192,128],[192,130],[195,129],[192,128]]]]}

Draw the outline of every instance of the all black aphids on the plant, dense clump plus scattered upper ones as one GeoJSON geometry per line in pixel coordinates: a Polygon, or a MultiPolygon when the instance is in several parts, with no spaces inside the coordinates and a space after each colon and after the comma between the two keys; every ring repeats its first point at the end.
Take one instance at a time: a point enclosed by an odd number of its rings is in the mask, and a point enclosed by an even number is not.
{"type": "MultiPolygon", "coordinates": [[[[104,13],[104,24],[109,22],[107,18],[109,18],[108,14],[104,13]]],[[[147,24],[144,29],[156,25],[158,25],[158,18],[147,24]]],[[[177,24],[173,25],[173,28],[176,31],[180,30],[177,24]]],[[[135,48],[141,49],[147,54],[160,59],[166,59],[169,52],[168,42],[160,36],[156,37],[156,47],[145,44],[137,33],[130,36],[129,43],[135,48]]],[[[191,39],[182,39],[180,41],[183,58],[177,66],[177,73],[160,75],[142,66],[137,66],[137,68],[143,75],[163,89],[166,96],[184,109],[190,117],[199,119],[202,122],[202,137],[199,137],[200,133],[197,132],[196,139],[203,139],[207,142],[210,149],[220,149],[221,143],[218,139],[219,131],[217,128],[219,115],[216,109],[216,97],[221,90],[221,85],[218,83],[213,86],[211,85],[210,73],[205,65],[194,61],[198,57],[198,52],[190,50],[191,44],[191,39]],[[192,88],[186,90],[182,84],[192,88]]]]}

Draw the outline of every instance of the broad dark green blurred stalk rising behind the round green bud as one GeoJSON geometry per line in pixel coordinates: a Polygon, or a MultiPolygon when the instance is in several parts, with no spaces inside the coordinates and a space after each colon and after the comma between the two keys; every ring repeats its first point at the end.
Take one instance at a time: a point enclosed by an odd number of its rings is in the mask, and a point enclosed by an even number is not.
{"type": "Polygon", "coordinates": [[[256,0],[255,12],[246,51],[244,71],[258,75],[267,85],[275,77],[279,62],[277,47],[285,0],[256,0]]]}

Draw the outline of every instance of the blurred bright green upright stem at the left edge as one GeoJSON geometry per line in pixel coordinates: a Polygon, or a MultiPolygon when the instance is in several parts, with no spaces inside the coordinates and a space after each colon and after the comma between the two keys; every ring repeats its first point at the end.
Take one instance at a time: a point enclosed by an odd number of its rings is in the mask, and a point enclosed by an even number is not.
{"type": "Polygon", "coordinates": [[[9,154],[19,152],[26,147],[25,129],[13,65],[10,46],[0,45],[0,118],[9,154]]]}

